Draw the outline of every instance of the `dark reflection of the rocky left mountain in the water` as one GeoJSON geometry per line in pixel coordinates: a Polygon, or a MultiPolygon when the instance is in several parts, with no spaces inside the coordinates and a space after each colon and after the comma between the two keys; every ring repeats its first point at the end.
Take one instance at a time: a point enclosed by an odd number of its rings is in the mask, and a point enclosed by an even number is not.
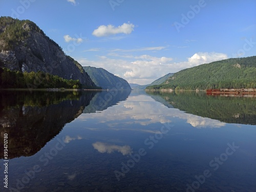
{"type": "Polygon", "coordinates": [[[0,148],[8,134],[10,159],[35,154],[82,113],[95,93],[0,92],[0,148]]]}

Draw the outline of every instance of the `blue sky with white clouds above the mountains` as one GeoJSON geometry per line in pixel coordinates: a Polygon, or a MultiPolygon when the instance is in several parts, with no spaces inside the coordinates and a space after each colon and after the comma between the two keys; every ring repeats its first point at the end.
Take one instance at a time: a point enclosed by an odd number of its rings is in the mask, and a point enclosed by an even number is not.
{"type": "Polygon", "coordinates": [[[256,55],[256,1],[0,0],[82,66],[147,84],[215,60],[256,55]]]}

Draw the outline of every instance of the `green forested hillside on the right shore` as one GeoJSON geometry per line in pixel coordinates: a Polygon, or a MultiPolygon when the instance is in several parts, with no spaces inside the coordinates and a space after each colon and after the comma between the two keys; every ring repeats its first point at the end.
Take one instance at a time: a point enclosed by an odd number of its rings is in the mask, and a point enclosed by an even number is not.
{"type": "Polygon", "coordinates": [[[256,88],[256,56],[230,58],[188,68],[175,73],[164,83],[148,90],[205,90],[256,88]]]}

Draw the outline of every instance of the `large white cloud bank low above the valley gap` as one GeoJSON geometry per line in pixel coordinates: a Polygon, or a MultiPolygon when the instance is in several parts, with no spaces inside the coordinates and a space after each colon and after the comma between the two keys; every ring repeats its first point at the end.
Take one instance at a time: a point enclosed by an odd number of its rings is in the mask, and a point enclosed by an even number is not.
{"type": "MultiPolygon", "coordinates": [[[[159,47],[159,49],[162,48],[159,47]]],[[[175,73],[182,69],[199,66],[203,63],[228,58],[223,53],[198,52],[188,57],[186,61],[173,62],[173,58],[171,57],[155,57],[148,54],[139,56],[132,54],[120,55],[117,50],[116,52],[111,51],[108,56],[100,56],[97,61],[78,59],[78,62],[82,66],[101,67],[110,73],[119,74],[119,77],[124,78],[130,83],[149,84],[167,73],[175,73]]]]}

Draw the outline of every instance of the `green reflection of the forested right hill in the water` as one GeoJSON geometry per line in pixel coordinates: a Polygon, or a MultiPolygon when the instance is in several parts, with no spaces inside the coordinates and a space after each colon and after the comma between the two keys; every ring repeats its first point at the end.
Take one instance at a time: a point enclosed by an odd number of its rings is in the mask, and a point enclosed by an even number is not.
{"type": "MultiPolygon", "coordinates": [[[[147,92],[156,101],[174,106],[189,114],[226,123],[256,124],[256,97],[224,97],[205,92],[147,92]],[[165,102],[162,102],[164,99],[165,102]]],[[[169,105],[166,105],[170,107],[169,105]]]]}

